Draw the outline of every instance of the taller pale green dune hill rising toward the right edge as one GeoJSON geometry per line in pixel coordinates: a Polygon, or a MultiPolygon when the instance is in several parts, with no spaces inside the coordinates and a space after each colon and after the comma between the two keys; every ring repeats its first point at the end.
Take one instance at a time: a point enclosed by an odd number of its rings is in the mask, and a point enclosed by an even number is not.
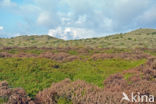
{"type": "Polygon", "coordinates": [[[71,41],[82,46],[100,48],[155,48],[156,29],[138,29],[101,38],[71,41]]]}

